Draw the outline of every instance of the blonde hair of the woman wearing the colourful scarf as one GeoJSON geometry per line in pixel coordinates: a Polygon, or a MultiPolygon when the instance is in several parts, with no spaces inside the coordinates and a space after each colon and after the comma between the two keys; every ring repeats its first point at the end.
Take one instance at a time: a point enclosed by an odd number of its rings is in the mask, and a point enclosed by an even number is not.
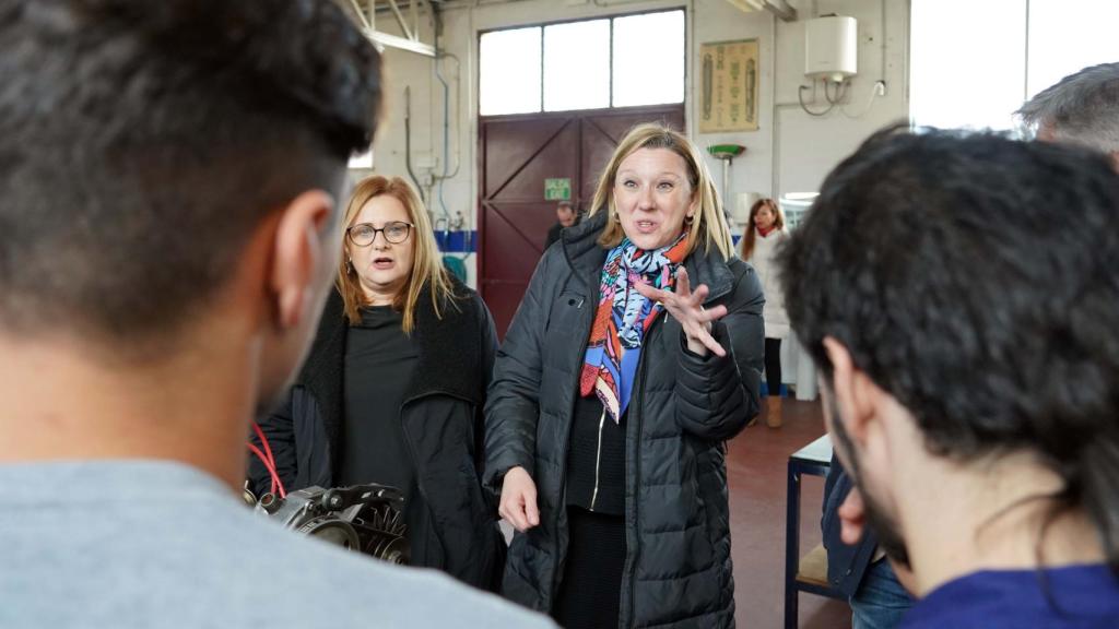
{"type": "Polygon", "coordinates": [[[613,195],[614,180],[618,177],[618,168],[621,162],[640,149],[668,149],[680,156],[684,163],[687,165],[692,200],[695,201],[696,195],[699,195],[699,212],[696,213],[690,225],[685,224],[688,231],[687,253],[692,254],[702,241],[705,251],[711,252],[712,245],[715,245],[723,254],[723,259],[730,260],[734,255],[734,241],[731,238],[731,228],[723,215],[718,190],[715,189],[715,182],[712,180],[711,171],[707,170],[703,156],[683,133],[658,123],[639,124],[631,129],[614,149],[610,161],[606,162],[589,213],[589,216],[593,216],[603,209],[606,212],[606,227],[599,236],[599,244],[604,247],[614,247],[622,242],[622,237],[626,235],[617,219],[618,208],[614,207],[613,195]]]}

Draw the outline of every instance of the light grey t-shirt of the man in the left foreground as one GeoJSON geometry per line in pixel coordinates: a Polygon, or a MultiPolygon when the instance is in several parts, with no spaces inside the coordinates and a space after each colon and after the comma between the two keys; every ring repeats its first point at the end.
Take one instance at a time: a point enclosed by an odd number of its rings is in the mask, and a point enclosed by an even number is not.
{"type": "Polygon", "coordinates": [[[197,468],[0,466],[0,627],[548,627],[442,573],[300,537],[197,468]]]}

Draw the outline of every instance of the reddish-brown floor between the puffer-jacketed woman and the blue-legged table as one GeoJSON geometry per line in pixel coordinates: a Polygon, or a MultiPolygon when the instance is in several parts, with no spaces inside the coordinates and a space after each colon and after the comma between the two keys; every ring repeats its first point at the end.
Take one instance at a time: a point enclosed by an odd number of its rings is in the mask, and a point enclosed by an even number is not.
{"type": "MultiPolygon", "coordinates": [[[[727,449],[731,488],[731,552],[739,629],[780,629],[784,621],[784,519],[789,454],[824,434],[819,402],[784,400],[784,425],[758,423],[727,449]]],[[[801,484],[801,553],[820,542],[824,478],[801,484]]],[[[800,594],[800,629],[849,629],[846,603],[800,594]]]]}

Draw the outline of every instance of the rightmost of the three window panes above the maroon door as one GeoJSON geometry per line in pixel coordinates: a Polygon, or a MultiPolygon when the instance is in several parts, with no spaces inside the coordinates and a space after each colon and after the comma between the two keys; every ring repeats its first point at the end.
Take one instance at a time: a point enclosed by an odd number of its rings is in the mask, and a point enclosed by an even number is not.
{"type": "Polygon", "coordinates": [[[684,11],[614,19],[613,106],[684,102],[684,11]]]}

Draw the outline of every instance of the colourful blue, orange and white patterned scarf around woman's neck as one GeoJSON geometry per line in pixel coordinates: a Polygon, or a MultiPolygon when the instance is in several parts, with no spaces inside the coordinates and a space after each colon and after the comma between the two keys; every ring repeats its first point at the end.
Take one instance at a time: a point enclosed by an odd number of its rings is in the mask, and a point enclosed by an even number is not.
{"type": "Polygon", "coordinates": [[[629,238],[612,248],[602,267],[599,309],[579,378],[580,395],[593,391],[614,423],[620,421],[633,391],[633,376],[641,358],[641,341],[664,308],[637,289],[639,281],[666,291],[676,283],[676,270],[688,248],[680,234],[673,244],[643,251],[629,238]]]}

